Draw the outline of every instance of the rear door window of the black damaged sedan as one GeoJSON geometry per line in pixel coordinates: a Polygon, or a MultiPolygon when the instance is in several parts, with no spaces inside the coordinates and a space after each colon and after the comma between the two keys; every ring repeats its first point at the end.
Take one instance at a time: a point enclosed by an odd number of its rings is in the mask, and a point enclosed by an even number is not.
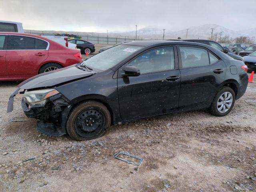
{"type": "Polygon", "coordinates": [[[182,68],[210,65],[208,51],[203,48],[180,46],[182,68]]]}

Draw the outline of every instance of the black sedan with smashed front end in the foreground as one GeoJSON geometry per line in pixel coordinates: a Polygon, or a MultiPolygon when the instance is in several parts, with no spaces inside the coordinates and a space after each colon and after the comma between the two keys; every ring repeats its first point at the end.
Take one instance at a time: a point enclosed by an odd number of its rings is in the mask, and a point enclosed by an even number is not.
{"type": "Polygon", "coordinates": [[[225,116],[246,91],[246,71],[242,61],[205,44],[134,41],[22,82],[7,112],[23,94],[24,113],[39,119],[40,132],[90,140],[111,123],[161,114],[209,108],[225,116]]]}

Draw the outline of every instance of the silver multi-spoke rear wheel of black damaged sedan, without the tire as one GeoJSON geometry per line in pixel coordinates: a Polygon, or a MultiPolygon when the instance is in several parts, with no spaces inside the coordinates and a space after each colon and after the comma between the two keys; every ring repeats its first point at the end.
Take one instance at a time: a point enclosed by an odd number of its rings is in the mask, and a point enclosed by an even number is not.
{"type": "Polygon", "coordinates": [[[230,92],[224,92],[218,99],[217,109],[220,113],[226,113],[233,103],[233,96],[230,92]]]}

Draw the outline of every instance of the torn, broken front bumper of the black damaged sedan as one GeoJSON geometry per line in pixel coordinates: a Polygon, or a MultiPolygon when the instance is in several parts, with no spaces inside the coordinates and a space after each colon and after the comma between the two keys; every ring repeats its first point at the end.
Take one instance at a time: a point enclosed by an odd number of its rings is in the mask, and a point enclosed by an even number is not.
{"type": "MultiPolygon", "coordinates": [[[[14,97],[18,94],[18,88],[9,98],[7,112],[13,110],[14,97]]],[[[24,93],[24,92],[20,92],[24,93]]],[[[46,104],[41,107],[30,107],[28,103],[22,99],[22,109],[28,118],[36,118],[38,131],[50,136],[62,136],[66,134],[66,120],[72,108],[70,102],[61,93],[48,98],[46,104]]]]}

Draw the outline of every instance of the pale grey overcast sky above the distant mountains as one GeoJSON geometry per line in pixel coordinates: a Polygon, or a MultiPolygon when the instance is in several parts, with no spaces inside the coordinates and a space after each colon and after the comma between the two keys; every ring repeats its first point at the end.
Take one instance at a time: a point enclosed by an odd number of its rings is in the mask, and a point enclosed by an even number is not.
{"type": "Polygon", "coordinates": [[[256,0],[0,0],[0,20],[24,29],[125,32],[146,26],[181,30],[219,24],[256,28],[256,0]]]}

